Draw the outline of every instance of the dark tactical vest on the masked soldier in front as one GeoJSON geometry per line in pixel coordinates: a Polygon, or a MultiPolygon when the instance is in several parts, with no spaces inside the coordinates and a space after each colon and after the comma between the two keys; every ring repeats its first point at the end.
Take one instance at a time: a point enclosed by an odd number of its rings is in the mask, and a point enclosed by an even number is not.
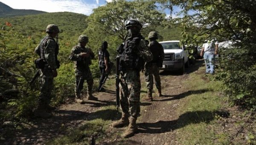
{"type": "Polygon", "coordinates": [[[142,57],[138,55],[140,38],[125,41],[123,52],[120,57],[119,70],[142,70],[145,64],[142,57]]]}

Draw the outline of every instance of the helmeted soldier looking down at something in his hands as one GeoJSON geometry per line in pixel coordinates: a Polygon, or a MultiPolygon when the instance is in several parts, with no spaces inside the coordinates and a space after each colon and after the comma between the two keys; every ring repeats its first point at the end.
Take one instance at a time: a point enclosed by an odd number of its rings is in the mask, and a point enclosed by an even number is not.
{"type": "Polygon", "coordinates": [[[93,75],[90,71],[89,65],[91,59],[94,58],[94,53],[90,48],[85,47],[88,43],[88,37],[86,35],[80,35],[78,38],[78,44],[71,50],[70,59],[75,61],[75,74],[76,74],[76,103],[83,103],[81,98],[81,90],[83,89],[84,80],[87,81],[87,99],[98,100],[92,95],[93,90],[93,75]]]}

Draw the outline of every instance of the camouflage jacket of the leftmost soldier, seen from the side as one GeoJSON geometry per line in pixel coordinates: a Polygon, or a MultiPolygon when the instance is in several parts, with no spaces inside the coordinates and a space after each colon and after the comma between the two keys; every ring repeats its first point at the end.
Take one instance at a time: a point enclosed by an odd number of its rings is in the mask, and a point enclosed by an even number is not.
{"type": "MultiPolygon", "coordinates": [[[[46,37],[49,37],[49,35],[47,35],[46,37]]],[[[43,52],[44,52],[44,58],[45,61],[47,62],[49,68],[51,68],[52,70],[56,70],[57,64],[56,64],[56,56],[55,56],[55,52],[57,49],[57,43],[56,41],[49,37],[50,39],[47,39],[45,42],[44,39],[41,40],[40,44],[35,48],[35,52],[41,57],[41,49],[40,49],[40,45],[42,44],[43,46],[43,52]]]]}

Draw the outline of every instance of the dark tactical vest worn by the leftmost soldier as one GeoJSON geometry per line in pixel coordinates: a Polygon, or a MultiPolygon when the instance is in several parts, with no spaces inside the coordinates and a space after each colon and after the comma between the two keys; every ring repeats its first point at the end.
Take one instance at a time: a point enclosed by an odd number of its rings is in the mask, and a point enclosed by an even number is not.
{"type": "MultiPolygon", "coordinates": [[[[40,58],[44,59],[44,61],[45,61],[44,45],[45,45],[46,41],[49,40],[49,39],[53,40],[53,41],[55,42],[55,44],[56,44],[56,47],[55,47],[55,61],[56,61],[56,66],[57,66],[57,68],[59,68],[59,67],[60,67],[60,62],[58,61],[58,58],[57,58],[57,55],[58,55],[58,52],[59,52],[59,46],[58,46],[58,44],[56,43],[56,41],[55,41],[53,38],[49,37],[49,36],[46,36],[46,37],[41,41],[41,43],[39,44],[39,48],[40,48],[40,58]]],[[[47,64],[47,63],[46,63],[46,64],[47,64]]]]}

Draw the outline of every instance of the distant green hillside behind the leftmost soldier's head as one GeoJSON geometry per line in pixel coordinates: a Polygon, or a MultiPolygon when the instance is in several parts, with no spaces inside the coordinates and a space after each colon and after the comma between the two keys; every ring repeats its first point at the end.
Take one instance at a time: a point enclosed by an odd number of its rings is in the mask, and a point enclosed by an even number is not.
{"type": "MultiPolygon", "coordinates": [[[[85,22],[87,16],[72,12],[55,12],[36,15],[26,15],[17,17],[2,17],[0,18],[0,26],[3,29],[8,29],[9,33],[17,33],[14,37],[6,37],[6,45],[14,43],[19,44],[18,47],[27,47],[27,41],[30,41],[29,49],[33,50],[40,42],[45,34],[45,29],[48,24],[54,23],[60,29],[59,40],[61,53],[67,54],[72,46],[76,44],[77,37],[86,29],[85,22]],[[6,26],[9,22],[12,26],[6,26]],[[28,40],[29,39],[29,40],[28,40]]],[[[67,59],[65,58],[67,61],[67,59]]]]}

